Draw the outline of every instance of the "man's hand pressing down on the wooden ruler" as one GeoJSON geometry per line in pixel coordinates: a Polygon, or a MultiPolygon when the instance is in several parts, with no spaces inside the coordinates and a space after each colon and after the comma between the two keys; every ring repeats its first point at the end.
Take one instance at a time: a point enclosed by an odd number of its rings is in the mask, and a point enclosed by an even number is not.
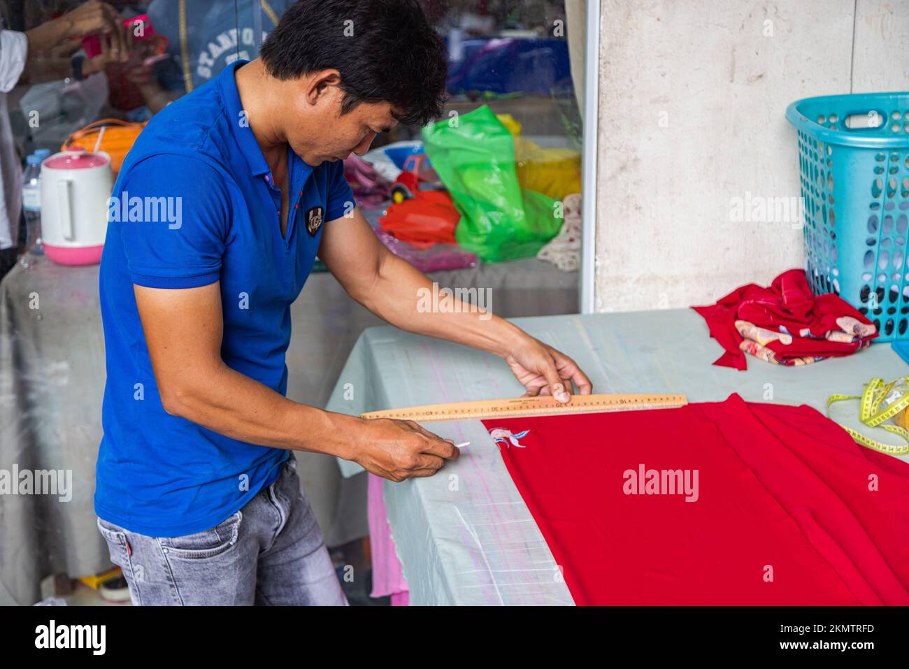
{"type": "Polygon", "coordinates": [[[572,382],[580,394],[590,394],[593,387],[574,360],[530,335],[505,355],[505,362],[527,389],[524,397],[551,394],[566,403],[571,400],[572,382]]]}

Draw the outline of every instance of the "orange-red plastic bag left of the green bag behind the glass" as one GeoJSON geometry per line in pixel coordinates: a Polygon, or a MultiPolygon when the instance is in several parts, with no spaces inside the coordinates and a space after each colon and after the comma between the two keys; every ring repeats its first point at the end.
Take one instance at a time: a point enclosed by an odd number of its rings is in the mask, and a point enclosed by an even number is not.
{"type": "Polygon", "coordinates": [[[446,191],[418,191],[404,202],[389,206],[379,225],[402,242],[426,248],[434,244],[457,244],[454,228],[460,220],[461,215],[446,191]]]}

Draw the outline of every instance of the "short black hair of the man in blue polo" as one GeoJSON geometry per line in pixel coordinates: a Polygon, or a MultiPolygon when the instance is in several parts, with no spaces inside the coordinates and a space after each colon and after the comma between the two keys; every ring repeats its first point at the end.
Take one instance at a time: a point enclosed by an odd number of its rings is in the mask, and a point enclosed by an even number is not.
{"type": "Polygon", "coordinates": [[[442,115],[445,43],[416,0],[298,0],[260,55],[276,79],[336,69],[345,93],[342,114],[360,103],[387,102],[405,125],[442,115]]]}

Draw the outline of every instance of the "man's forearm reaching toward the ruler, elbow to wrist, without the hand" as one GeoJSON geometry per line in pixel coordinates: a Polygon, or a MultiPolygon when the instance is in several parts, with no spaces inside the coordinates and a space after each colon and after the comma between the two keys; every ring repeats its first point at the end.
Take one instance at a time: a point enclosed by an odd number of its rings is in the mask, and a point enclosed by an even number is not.
{"type": "MultiPolygon", "coordinates": [[[[413,265],[390,252],[382,255],[375,284],[354,298],[388,323],[417,335],[447,339],[499,356],[508,345],[527,337],[521,328],[452,298],[453,308],[421,310],[421,295],[433,293],[433,282],[413,265]],[[457,303],[457,304],[456,304],[457,303]]],[[[435,306],[435,305],[434,305],[435,306]]],[[[442,305],[439,305],[440,307],[442,305]]]]}

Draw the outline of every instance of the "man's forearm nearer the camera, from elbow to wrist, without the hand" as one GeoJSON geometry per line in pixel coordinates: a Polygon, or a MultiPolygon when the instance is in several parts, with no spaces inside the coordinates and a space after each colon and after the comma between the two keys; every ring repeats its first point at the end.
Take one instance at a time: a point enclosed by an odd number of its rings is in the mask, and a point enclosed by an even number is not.
{"type": "Polygon", "coordinates": [[[225,364],[186,370],[172,389],[160,390],[167,413],[249,444],[350,459],[353,428],[362,422],[288,400],[225,364]]]}

